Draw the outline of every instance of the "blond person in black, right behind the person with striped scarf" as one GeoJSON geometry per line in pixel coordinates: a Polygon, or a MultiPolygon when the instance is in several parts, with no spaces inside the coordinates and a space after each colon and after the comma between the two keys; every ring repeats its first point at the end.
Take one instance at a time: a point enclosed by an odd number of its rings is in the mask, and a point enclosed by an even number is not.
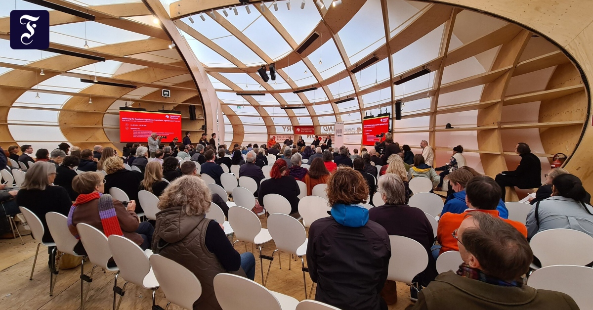
{"type": "MultiPolygon", "coordinates": [[[[146,148],[146,147],[143,147],[146,148]]],[[[109,157],[103,168],[107,175],[105,176],[105,191],[117,187],[126,193],[127,198],[136,201],[136,212],[142,213],[142,205],[138,200],[138,191],[144,175],[138,171],[127,170],[123,167],[123,160],[116,156],[109,157]]],[[[123,201],[122,201],[123,202],[123,201]]]]}

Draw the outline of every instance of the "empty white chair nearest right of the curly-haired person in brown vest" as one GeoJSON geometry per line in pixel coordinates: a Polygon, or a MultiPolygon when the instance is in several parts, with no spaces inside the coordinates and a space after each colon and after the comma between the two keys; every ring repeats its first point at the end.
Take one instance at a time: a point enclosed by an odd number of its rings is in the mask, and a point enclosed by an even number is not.
{"type": "MultiPolygon", "coordinates": [[[[238,187],[236,189],[240,189],[238,187]]],[[[235,189],[235,190],[236,190],[235,189]]],[[[233,197],[234,197],[233,192],[233,197]]],[[[251,195],[253,198],[253,195],[251,195]]],[[[272,236],[267,229],[262,228],[262,222],[260,222],[259,218],[251,211],[251,208],[242,207],[239,205],[235,205],[228,209],[228,222],[231,223],[231,227],[235,230],[235,237],[237,237],[237,241],[243,242],[250,242],[259,248],[260,251],[260,270],[262,270],[262,284],[265,284],[266,281],[263,277],[263,256],[262,256],[262,245],[263,243],[269,242],[272,240],[272,236]]],[[[235,241],[235,243],[237,242],[235,241]]],[[[234,245],[234,243],[233,243],[234,245]]],[[[247,252],[247,245],[246,252],[247,252]]],[[[266,260],[269,259],[266,257],[266,260]]],[[[272,259],[270,258],[270,264],[272,264],[272,259]]],[[[268,268],[269,271],[269,268],[268,268]]],[[[237,293],[237,292],[235,292],[237,293]]]]}

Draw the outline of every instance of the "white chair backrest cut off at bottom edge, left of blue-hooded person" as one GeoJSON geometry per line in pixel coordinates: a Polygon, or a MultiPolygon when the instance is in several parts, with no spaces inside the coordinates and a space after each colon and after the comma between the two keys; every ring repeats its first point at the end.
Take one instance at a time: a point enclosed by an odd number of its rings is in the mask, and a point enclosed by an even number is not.
{"type": "Polygon", "coordinates": [[[234,274],[216,274],[214,293],[222,310],[282,309],[276,296],[266,287],[234,274]]]}

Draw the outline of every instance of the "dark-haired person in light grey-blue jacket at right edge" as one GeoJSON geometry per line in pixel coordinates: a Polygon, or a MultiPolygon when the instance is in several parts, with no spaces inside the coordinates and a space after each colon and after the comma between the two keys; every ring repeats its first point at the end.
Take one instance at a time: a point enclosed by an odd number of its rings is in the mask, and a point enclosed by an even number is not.
{"type": "MultiPolygon", "coordinates": [[[[27,172],[28,173],[28,172],[27,172]]],[[[586,204],[581,179],[562,174],[552,180],[552,195],[535,203],[527,214],[527,238],[554,228],[574,229],[593,236],[593,207],[586,204]]]]}

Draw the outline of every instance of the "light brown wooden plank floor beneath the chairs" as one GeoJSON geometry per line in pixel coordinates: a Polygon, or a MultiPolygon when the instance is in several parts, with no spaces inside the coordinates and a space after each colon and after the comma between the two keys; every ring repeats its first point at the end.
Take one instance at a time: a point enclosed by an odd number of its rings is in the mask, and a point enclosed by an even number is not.
{"type": "MultiPolygon", "coordinates": [[[[266,220],[262,220],[266,227],[266,220]]],[[[31,236],[23,237],[25,244],[20,239],[0,240],[0,309],[79,309],[80,308],[80,267],[70,270],[60,270],[53,296],[49,296],[49,268],[47,267],[47,248],[43,245],[39,249],[39,257],[33,280],[29,280],[33,258],[37,243],[31,236]]],[[[245,251],[243,242],[237,242],[235,248],[239,252],[245,251]]],[[[251,251],[251,245],[247,245],[251,251]]],[[[275,249],[273,241],[264,245],[264,254],[271,255],[275,249]]],[[[257,253],[256,253],[257,252],[257,253]]],[[[256,278],[261,283],[260,263],[256,254],[256,278]]],[[[282,253],[282,269],[279,269],[278,260],[272,262],[267,288],[292,296],[298,300],[305,299],[302,283],[301,261],[292,261],[292,269],[288,270],[289,254],[282,253]]],[[[268,262],[264,260],[264,276],[268,262]]],[[[305,265],[307,261],[305,260],[305,265]]],[[[90,273],[92,265],[85,263],[85,271],[90,273]]],[[[113,273],[103,273],[95,268],[93,282],[88,292],[85,309],[111,309],[113,306],[113,273]]],[[[119,286],[123,284],[120,278],[119,286]]],[[[311,279],[307,274],[307,292],[311,289],[311,279]]],[[[85,285],[86,290],[86,285],[85,285]]],[[[85,291],[86,292],[86,291],[85,291]]],[[[164,308],[167,299],[161,290],[157,290],[157,304],[164,308]]],[[[398,302],[390,305],[389,309],[404,309],[410,305],[409,287],[398,283],[398,302]]],[[[128,284],[120,309],[151,309],[151,291],[141,289],[133,284],[128,284]]],[[[171,305],[169,309],[180,309],[171,305]]]]}

